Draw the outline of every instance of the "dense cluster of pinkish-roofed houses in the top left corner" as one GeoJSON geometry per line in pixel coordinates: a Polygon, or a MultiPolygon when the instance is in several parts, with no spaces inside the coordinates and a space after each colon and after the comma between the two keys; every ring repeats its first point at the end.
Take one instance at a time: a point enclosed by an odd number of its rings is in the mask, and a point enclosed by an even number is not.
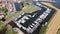
{"type": "Polygon", "coordinates": [[[0,8],[2,7],[6,7],[8,9],[8,13],[12,13],[15,12],[15,7],[14,7],[14,3],[11,3],[11,1],[8,0],[0,0],[0,2],[2,2],[0,4],[0,8]]]}

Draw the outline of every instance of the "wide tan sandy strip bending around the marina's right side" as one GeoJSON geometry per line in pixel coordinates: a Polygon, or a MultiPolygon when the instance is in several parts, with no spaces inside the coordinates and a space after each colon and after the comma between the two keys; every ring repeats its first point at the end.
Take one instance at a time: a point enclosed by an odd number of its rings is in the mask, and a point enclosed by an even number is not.
{"type": "Polygon", "coordinates": [[[55,14],[54,18],[49,23],[47,31],[45,33],[45,34],[56,34],[58,29],[60,28],[60,10],[52,6],[50,3],[43,3],[43,4],[48,5],[57,10],[57,13],[55,14]]]}

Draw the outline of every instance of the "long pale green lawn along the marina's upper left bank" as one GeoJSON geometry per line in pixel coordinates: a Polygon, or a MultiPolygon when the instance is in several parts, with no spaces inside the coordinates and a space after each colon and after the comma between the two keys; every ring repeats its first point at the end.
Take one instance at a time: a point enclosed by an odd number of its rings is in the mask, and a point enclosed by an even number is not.
{"type": "Polygon", "coordinates": [[[25,12],[26,13],[27,12],[33,12],[33,11],[38,10],[38,9],[39,8],[36,7],[36,6],[26,5],[21,11],[18,11],[18,12],[14,13],[14,14],[6,15],[6,21],[10,20],[12,17],[15,17],[15,16],[17,16],[19,14],[22,14],[22,13],[25,13],[25,12]]]}

